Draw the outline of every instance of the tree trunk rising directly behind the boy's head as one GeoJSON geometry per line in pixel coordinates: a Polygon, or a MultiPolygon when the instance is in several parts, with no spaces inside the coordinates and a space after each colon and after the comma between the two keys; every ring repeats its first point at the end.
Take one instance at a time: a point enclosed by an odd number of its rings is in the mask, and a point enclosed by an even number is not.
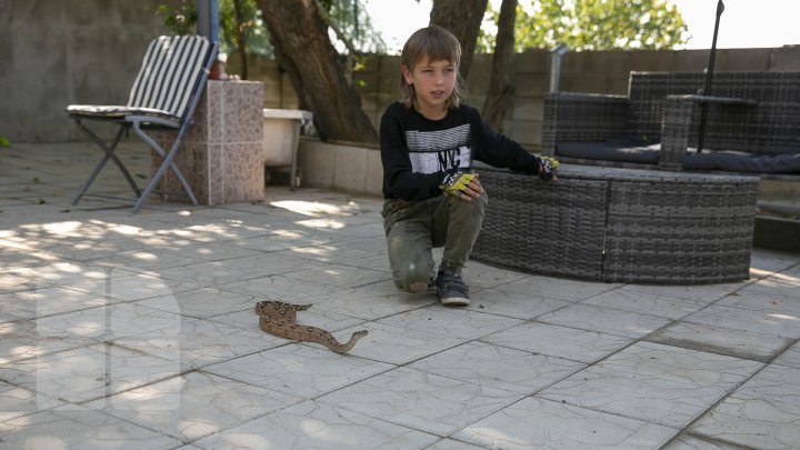
{"type": "Polygon", "coordinates": [[[461,43],[459,74],[467,81],[478,32],[489,0],[433,0],[430,23],[449,30],[461,43]]]}

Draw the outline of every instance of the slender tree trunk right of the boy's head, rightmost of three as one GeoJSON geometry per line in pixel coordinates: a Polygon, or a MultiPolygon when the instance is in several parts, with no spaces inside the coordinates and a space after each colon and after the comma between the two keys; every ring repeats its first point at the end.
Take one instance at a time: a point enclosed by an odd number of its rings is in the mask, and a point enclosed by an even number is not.
{"type": "Polygon", "coordinates": [[[514,53],[514,20],[517,18],[517,0],[502,0],[500,20],[498,21],[497,42],[492,58],[489,90],[483,103],[483,120],[497,131],[502,131],[502,121],[511,107],[514,88],[508,79],[509,61],[514,53]]]}

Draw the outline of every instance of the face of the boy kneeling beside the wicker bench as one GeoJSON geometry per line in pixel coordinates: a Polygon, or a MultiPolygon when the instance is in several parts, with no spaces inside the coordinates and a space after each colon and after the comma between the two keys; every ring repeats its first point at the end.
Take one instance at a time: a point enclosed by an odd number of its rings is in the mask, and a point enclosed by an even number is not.
{"type": "Polygon", "coordinates": [[[402,67],[406,82],[414,87],[419,112],[431,119],[440,119],[447,112],[446,102],[456,88],[457,72],[456,64],[447,60],[423,59],[412,71],[402,67]]]}

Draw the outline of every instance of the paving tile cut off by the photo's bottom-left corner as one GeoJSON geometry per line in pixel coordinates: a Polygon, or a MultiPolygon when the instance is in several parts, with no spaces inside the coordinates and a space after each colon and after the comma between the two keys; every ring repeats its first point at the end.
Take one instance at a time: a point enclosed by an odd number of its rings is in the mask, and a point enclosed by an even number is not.
{"type": "Polygon", "coordinates": [[[112,416],[67,406],[0,423],[9,449],[172,449],[182,442],[112,416]]]}

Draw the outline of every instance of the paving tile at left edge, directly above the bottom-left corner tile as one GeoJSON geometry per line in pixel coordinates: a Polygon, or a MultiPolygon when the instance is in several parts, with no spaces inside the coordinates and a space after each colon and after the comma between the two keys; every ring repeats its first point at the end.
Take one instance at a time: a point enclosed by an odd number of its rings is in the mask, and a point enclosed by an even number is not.
{"type": "Polygon", "coordinates": [[[174,377],[180,363],[94,344],[0,366],[0,380],[69,402],[94,400],[174,377]]]}

